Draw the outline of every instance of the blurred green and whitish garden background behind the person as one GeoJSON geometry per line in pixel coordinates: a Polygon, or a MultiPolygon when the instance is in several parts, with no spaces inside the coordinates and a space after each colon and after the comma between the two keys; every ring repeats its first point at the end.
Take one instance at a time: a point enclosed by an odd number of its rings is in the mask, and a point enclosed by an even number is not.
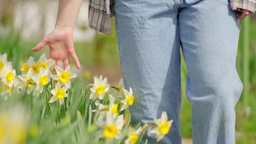
{"type": "MultiPolygon", "coordinates": [[[[31,49],[41,38],[51,32],[55,25],[58,1],[50,0],[1,0],[0,2],[0,53],[8,54],[8,61],[19,71],[21,63],[30,56],[39,58],[42,53],[49,55],[48,47],[40,52],[31,49]]],[[[111,85],[117,85],[122,78],[120,61],[115,37],[114,18],[112,18],[112,35],[105,35],[88,28],[88,1],[84,1],[74,31],[75,49],[82,69],[77,70],[70,60],[71,68],[78,73],[77,87],[82,88],[93,82],[94,75],[108,78],[111,85]]],[[[255,16],[254,16],[255,17],[255,16]]],[[[248,55],[243,55],[244,25],[241,23],[240,41],[237,54],[237,71],[243,79],[248,73],[248,94],[242,95],[236,105],[236,141],[238,144],[254,144],[256,142],[256,18],[250,18],[248,55]],[[244,69],[244,59],[248,59],[249,68],[244,69]],[[244,97],[248,99],[244,103],[244,97]]],[[[180,113],[182,137],[192,138],[191,106],[185,95],[186,65],[181,61],[182,108],[180,113]]]]}

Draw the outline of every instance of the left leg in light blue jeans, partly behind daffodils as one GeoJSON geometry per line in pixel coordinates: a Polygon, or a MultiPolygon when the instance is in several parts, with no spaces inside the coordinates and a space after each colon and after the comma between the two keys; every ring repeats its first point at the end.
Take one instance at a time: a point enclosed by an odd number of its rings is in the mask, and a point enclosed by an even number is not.
{"type": "MultiPolygon", "coordinates": [[[[181,144],[180,38],[174,4],[116,0],[115,17],[124,85],[134,92],[132,125],[154,121],[166,111],[174,122],[159,143],[181,144]]],[[[156,143],[155,135],[147,132],[145,137],[149,144],[156,143]]]]}

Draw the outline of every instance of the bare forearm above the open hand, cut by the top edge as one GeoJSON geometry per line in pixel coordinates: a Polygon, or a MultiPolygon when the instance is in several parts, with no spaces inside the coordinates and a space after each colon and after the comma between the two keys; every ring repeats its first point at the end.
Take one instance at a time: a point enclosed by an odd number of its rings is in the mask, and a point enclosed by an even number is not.
{"type": "Polygon", "coordinates": [[[74,29],[83,0],[59,0],[56,28],[74,29]]]}

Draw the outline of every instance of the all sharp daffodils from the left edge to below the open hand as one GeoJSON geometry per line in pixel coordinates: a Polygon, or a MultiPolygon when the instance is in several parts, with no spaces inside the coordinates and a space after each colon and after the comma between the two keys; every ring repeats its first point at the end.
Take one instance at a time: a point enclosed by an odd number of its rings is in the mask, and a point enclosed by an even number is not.
{"type": "Polygon", "coordinates": [[[49,102],[59,100],[59,103],[62,104],[64,97],[68,96],[66,91],[70,88],[70,79],[77,75],[70,73],[70,65],[63,70],[54,64],[55,61],[48,60],[45,54],[37,62],[34,61],[34,57],[30,57],[26,63],[22,64],[21,75],[16,76],[11,62],[7,62],[7,55],[0,54],[0,95],[4,95],[5,99],[8,99],[12,91],[19,92],[20,89],[26,94],[32,93],[33,96],[39,96],[44,87],[55,85],[55,88],[52,87],[52,97],[49,102]],[[50,68],[53,67],[55,67],[56,75],[50,71],[50,68]]]}

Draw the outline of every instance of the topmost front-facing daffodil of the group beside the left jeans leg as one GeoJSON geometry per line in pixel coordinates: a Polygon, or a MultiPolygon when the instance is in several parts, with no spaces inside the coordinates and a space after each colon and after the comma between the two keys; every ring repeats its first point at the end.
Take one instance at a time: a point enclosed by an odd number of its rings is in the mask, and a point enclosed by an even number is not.
{"type": "Polygon", "coordinates": [[[107,78],[102,80],[102,76],[100,76],[100,78],[94,77],[94,85],[92,88],[90,88],[90,90],[90,99],[95,100],[96,98],[99,98],[102,100],[105,96],[105,93],[109,90],[107,78]]]}

